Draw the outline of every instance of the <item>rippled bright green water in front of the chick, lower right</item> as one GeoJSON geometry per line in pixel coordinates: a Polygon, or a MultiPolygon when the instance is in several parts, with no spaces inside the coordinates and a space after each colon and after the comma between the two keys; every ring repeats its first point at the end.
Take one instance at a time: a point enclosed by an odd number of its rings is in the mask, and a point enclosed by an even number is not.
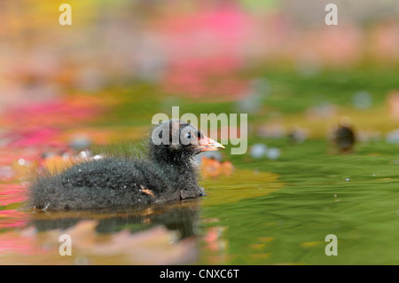
{"type": "Polygon", "coordinates": [[[281,190],[202,215],[228,228],[229,263],[397,264],[399,154],[391,146],[364,145],[351,155],[327,154],[323,140],[283,146],[279,161],[241,163],[278,173],[281,190]],[[338,238],[337,256],[325,255],[328,234],[338,238]],[[265,237],[272,240],[262,246],[265,237]]]}

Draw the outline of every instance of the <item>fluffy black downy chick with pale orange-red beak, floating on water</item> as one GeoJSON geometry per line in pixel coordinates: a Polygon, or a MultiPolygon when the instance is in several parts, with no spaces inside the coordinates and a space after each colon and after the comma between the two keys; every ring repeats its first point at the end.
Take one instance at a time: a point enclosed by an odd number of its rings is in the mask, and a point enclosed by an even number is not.
{"type": "Polygon", "coordinates": [[[153,129],[147,158],[85,161],[35,178],[29,208],[75,210],[135,206],[203,195],[193,157],[224,146],[190,123],[170,120],[153,129]]]}

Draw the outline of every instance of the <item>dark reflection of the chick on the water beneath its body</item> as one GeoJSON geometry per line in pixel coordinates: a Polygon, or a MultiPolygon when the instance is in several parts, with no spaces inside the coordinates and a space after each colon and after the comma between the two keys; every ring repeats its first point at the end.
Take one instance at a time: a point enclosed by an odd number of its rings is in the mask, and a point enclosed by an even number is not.
{"type": "Polygon", "coordinates": [[[140,232],[164,226],[177,232],[180,239],[195,236],[199,224],[200,200],[182,200],[139,208],[103,209],[98,211],[64,211],[31,214],[30,224],[37,231],[66,230],[82,220],[97,220],[97,232],[113,233],[128,229],[140,232]]]}

